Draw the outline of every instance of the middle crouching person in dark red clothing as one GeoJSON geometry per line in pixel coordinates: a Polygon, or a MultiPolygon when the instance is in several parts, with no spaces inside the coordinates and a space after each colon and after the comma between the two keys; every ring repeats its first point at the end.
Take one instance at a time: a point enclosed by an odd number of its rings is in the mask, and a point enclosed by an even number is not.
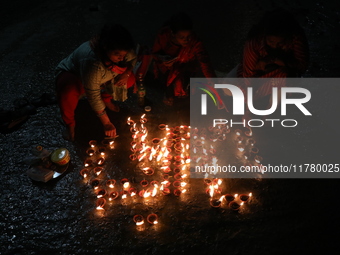
{"type": "Polygon", "coordinates": [[[190,77],[215,77],[209,56],[193,32],[191,19],[184,13],[174,15],[158,32],[153,46],[154,74],[166,85],[164,103],[174,97],[188,96],[190,77]]]}

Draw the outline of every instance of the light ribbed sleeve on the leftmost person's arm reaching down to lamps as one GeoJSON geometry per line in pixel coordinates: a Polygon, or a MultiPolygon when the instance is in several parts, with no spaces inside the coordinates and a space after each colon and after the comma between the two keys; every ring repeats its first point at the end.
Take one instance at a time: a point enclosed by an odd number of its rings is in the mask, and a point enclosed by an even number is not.
{"type": "Polygon", "coordinates": [[[87,63],[83,71],[83,84],[87,99],[94,111],[103,111],[105,104],[101,98],[100,86],[104,69],[98,62],[87,63]]]}

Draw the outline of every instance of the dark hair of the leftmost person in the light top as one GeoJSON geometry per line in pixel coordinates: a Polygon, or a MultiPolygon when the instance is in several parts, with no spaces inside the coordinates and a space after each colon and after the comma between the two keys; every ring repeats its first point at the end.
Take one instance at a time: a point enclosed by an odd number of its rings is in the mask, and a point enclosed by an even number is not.
{"type": "Polygon", "coordinates": [[[102,58],[108,51],[134,49],[130,32],[120,24],[106,24],[100,34],[90,40],[92,50],[102,58]]]}

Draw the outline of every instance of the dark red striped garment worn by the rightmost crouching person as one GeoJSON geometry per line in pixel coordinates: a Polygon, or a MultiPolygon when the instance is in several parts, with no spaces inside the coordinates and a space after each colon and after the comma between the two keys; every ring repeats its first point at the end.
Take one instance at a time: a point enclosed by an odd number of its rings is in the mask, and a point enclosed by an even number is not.
{"type": "MultiPolygon", "coordinates": [[[[290,42],[282,46],[281,50],[290,56],[290,70],[295,76],[301,75],[308,66],[308,44],[303,36],[294,36],[290,42]]],[[[265,37],[256,37],[246,42],[243,51],[243,63],[238,68],[238,77],[244,78],[286,78],[292,77],[284,68],[278,68],[269,72],[256,70],[259,60],[269,58],[268,48],[265,44],[265,37]]],[[[281,79],[284,81],[284,79],[281,79]]],[[[276,87],[285,86],[284,82],[276,84],[276,87]]],[[[263,97],[271,94],[272,83],[263,84],[256,92],[256,97],[263,97]]]]}

